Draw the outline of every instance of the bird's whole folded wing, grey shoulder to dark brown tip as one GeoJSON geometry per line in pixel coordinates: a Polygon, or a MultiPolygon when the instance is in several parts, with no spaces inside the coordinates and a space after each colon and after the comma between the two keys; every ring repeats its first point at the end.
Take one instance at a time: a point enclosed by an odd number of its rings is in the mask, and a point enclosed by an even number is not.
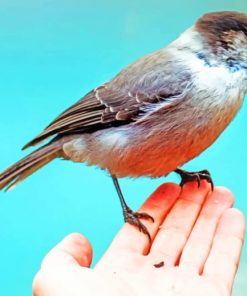
{"type": "Polygon", "coordinates": [[[158,67],[156,71],[151,63],[155,57],[153,54],[137,61],[109,83],[89,92],[61,113],[23,149],[56,135],[94,132],[138,121],[156,107],[168,107],[178,98],[180,100],[190,81],[190,74],[178,72],[176,64],[173,65],[166,55],[163,65],[154,63],[158,67]],[[140,65],[136,67],[138,63],[140,65]],[[162,102],[167,104],[160,104],[162,102]]]}

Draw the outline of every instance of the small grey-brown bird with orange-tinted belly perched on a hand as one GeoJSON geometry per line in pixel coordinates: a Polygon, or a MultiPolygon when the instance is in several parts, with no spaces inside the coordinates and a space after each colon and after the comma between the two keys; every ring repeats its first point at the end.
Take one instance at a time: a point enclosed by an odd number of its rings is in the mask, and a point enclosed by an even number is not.
{"type": "MultiPolygon", "coordinates": [[[[124,219],[149,236],[126,204],[118,178],[161,177],[182,185],[206,179],[184,163],[209,147],[240,109],[247,91],[247,14],[202,16],[167,47],[142,57],[59,115],[23,149],[50,141],[0,174],[10,189],[54,158],[98,165],[112,176],[124,219]]],[[[149,236],[150,238],[150,236],[149,236]]]]}

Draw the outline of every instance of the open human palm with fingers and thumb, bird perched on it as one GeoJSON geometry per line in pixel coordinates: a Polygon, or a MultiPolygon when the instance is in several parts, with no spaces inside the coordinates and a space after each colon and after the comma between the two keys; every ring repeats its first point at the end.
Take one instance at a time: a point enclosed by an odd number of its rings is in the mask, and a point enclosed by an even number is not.
{"type": "Polygon", "coordinates": [[[152,237],[125,224],[95,267],[92,247],[70,234],[44,258],[33,282],[35,296],[231,295],[245,221],[233,195],[202,182],[160,186],[140,211],[152,237]],[[159,268],[155,264],[160,263],[159,268]]]}

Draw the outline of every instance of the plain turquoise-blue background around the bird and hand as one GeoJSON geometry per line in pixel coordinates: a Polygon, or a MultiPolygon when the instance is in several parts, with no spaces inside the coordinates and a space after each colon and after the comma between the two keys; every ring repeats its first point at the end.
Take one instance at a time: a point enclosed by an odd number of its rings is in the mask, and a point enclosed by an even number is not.
{"type": "MultiPolygon", "coordinates": [[[[247,12],[247,2],[1,0],[0,171],[26,155],[20,148],[87,91],[216,10],[247,12]]],[[[208,168],[216,184],[233,190],[245,215],[246,117],[245,104],[217,143],[185,166],[208,168]]],[[[168,180],[179,181],[171,175],[121,185],[137,208],[168,180]]],[[[31,295],[43,256],[70,232],[91,240],[96,261],[122,222],[111,179],[85,165],[54,161],[15,190],[0,192],[0,294],[31,295]]],[[[245,252],[237,296],[247,289],[246,258],[245,252]]]]}

